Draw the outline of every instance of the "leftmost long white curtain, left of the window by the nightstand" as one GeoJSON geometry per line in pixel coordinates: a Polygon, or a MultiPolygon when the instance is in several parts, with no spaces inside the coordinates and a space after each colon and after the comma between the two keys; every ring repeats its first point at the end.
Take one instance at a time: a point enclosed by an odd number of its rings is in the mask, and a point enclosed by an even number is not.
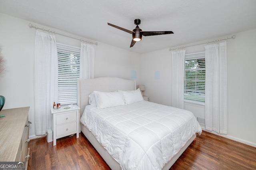
{"type": "Polygon", "coordinates": [[[58,100],[58,57],[54,35],[36,30],[34,46],[34,121],[36,135],[52,129],[50,108],[58,100]]]}

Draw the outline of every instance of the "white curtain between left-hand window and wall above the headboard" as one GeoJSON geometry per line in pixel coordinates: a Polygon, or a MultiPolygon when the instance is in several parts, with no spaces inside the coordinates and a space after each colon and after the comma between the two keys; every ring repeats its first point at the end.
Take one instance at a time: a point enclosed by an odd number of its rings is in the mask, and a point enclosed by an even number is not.
{"type": "Polygon", "coordinates": [[[94,78],[94,46],[81,42],[80,78],[94,78]]]}

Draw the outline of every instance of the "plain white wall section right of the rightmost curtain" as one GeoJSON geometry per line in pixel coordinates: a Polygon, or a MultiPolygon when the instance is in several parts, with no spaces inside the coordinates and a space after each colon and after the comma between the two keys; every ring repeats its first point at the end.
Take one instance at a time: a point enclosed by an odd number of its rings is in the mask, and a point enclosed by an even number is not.
{"type": "Polygon", "coordinates": [[[228,135],[256,146],[256,29],[228,45],[228,135]]]}

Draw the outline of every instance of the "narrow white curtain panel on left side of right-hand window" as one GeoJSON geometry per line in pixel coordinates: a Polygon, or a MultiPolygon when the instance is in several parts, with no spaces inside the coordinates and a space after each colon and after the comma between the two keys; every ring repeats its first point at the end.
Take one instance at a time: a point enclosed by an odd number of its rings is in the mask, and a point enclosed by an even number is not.
{"type": "Polygon", "coordinates": [[[172,51],[172,107],[184,109],[184,62],[186,50],[172,51]]]}

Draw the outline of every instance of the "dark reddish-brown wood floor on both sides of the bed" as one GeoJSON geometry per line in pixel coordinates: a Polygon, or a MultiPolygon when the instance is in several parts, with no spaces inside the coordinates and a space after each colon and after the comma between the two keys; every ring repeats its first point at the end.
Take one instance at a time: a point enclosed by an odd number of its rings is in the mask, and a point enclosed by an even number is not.
{"type": "MultiPolygon", "coordinates": [[[[31,140],[28,170],[110,170],[84,134],[31,140]]],[[[256,148],[203,131],[171,170],[256,170],[256,148]]]]}

